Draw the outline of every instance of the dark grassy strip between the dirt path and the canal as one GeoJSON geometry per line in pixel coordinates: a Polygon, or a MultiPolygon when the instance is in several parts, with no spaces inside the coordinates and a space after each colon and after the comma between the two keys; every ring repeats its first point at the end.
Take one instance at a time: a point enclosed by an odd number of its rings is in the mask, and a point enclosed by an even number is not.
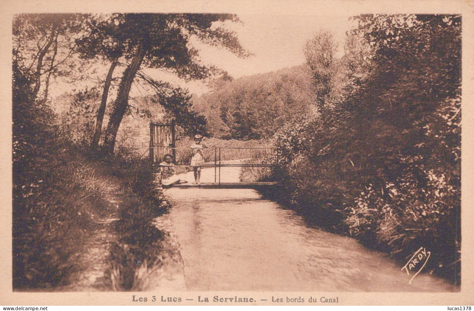
{"type": "Polygon", "coordinates": [[[114,291],[143,291],[161,276],[164,265],[181,258],[169,232],[158,229],[154,219],[170,208],[163,192],[151,183],[149,161],[134,158],[115,162],[110,175],[123,183],[118,220],[111,223],[117,236],[110,247],[107,285],[114,291]]]}

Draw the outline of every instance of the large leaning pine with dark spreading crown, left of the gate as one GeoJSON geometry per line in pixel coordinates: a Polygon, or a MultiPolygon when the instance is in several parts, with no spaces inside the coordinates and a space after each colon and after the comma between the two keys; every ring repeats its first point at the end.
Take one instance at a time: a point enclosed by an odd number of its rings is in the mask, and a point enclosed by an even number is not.
{"type": "MultiPolygon", "coordinates": [[[[82,40],[81,44],[92,42],[93,45],[108,46],[93,51],[110,60],[121,61],[126,67],[105,131],[103,150],[106,153],[114,150],[118,128],[128,110],[128,97],[136,78],[150,82],[157,93],[170,91],[166,82],[145,78],[143,69],[173,73],[185,81],[209,77],[217,68],[201,63],[199,50],[192,46],[193,41],[228,49],[241,58],[249,55],[236,33],[223,26],[225,21],[239,22],[239,19],[232,14],[112,14],[107,23],[98,24],[96,31],[91,31],[90,36],[82,40]],[[109,53],[120,57],[111,58],[109,53]],[[160,90],[159,85],[164,89],[160,90]]],[[[160,102],[166,102],[163,96],[160,102]]]]}

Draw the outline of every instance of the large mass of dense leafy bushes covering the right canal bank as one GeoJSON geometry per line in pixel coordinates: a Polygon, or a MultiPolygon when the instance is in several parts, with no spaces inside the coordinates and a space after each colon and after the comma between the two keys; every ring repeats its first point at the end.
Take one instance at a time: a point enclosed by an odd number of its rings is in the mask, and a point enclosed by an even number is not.
{"type": "Polygon", "coordinates": [[[287,123],[273,138],[280,170],[262,175],[319,224],[398,258],[426,247],[427,267],[459,282],[460,17],[356,20],[371,70],[353,70],[317,117],[287,123]]]}

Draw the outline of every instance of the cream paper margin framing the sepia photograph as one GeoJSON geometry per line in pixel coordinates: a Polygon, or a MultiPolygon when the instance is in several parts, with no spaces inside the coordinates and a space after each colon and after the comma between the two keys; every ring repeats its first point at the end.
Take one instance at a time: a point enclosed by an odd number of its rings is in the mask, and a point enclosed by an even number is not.
{"type": "MultiPolygon", "coordinates": [[[[474,230],[473,168],[474,168],[474,0],[3,0],[0,4],[0,137],[1,137],[1,194],[0,202],[0,305],[158,305],[159,302],[132,302],[132,295],[181,296],[196,299],[198,295],[212,297],[253,297],[255,305],[272,304],[271,297],[339,297],[338,305],[471,305],[474,303],[474,230]],[[11,269],[11,48],[12,16],[17,13],[42,12],[196,12],[266,15],[339,15],[362,13],[456,13],[462,14],[462,285],[459,293],[352,293],[352,292],[69,292],[69,293],[18,293],[12,292],[11,269]],[[260,299],[269,299],[266,302],[260,299]]],[[[383,269],[383,267],[381,267],[383,269]]],[[[408,281],[407,281],[408,282],[408,281]]],[[[159,299],[158,299],[159,300],[159,299]]],[[[305,303],[310,304],[305,299],[305,303]]],[[[175,303],[178,304],[178,303],[175,303]]],[[[179,305],[196,304],[185,301],[179,305]]],[[[214,303],[202,305],[234,303],[214,303]]],[[[239,303],[237,303],[239,304],[239,303]]],[[[241,303],[251,305],[252,303],[241,303]]],[[[278,305],[288,304],[274,303],[278,305]]],[[[294,304],[294,303],[293,303],[294,304]]],[[[299,304],[298,304],[299,305],[299,304]]],[[[322,305],[318,302],[317,305],[322,305]]],[[[328,305],[328,304],[326,304],[328,305]]]]}

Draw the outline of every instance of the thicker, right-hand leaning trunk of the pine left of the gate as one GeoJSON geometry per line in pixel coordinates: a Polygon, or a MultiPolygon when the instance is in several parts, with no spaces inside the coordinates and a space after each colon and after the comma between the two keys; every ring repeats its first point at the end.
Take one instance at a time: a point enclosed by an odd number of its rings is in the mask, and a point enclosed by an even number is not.
{"type": "Polygon", "coordinates": [[[135,75],[137,74],[138,69],[140,69],[144,56],[145,49],[143,44],[140,44],[137,54],[128,65],[127,69],[125,69],[122,81],[118,86],[118,94],[117,99],[115,100],[114,110],[110,115],[109,124],[107,125],[107,131],[105,133],[103,150],[107,154],[114,152],[118,127],[120,126],[120,122],[122,122],[123,115],[128,107],[128,94],[130,93],[133,79],[135,79],[135,75]]]}

